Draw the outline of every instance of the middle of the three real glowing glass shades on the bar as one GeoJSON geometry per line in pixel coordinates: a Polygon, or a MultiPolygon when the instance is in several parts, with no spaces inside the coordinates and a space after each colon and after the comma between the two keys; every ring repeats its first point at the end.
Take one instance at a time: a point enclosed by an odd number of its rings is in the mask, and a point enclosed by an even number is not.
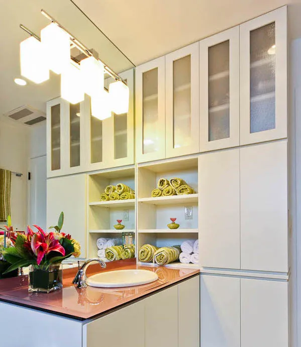
{"type": "Polygon", "coordinates": [[[88,57],[80,61],[80,72],[82,75],[83,91],[90,97],[99,95],[104,90],[104,64],[88,57]]]}

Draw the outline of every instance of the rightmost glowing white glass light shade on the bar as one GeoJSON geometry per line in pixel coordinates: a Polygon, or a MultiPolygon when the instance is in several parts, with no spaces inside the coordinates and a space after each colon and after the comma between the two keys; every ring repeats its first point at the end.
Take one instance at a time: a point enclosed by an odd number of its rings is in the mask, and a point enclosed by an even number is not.
{"type": "Polygon", "coordinates": [[[121,115],[129,111],[130,90],[121,81],[109,85],[111,108],[114,113],[121,115]]]}

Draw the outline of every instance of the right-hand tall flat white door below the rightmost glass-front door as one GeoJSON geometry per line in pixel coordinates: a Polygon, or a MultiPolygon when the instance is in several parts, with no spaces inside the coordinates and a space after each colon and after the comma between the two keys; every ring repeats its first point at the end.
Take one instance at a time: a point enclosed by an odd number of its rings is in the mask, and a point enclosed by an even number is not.
{"type": "Polygon", "coordinates": [[[288,271],[287,143],[240,149],[241,269],[288,271]]]}

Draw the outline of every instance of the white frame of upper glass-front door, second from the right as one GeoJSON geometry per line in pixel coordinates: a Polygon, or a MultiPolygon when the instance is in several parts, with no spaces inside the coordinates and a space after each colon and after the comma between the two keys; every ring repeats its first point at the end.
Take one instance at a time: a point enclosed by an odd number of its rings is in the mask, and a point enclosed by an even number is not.
{"type": "Polygon", "coordinates": [[[199,42],[200,152],[239,145],[239,27],[199,42]],[[229,40],[230,136],[209,141],[209,48],[229,40]]]}

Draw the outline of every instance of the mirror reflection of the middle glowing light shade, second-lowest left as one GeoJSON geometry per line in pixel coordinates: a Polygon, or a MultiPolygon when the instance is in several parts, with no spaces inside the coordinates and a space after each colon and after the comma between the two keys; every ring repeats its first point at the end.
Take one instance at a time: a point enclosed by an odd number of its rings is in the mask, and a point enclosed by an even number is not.
{"type": "Polygon", "coordinates": [[[70,62],[61,74],[61,97],[70,104],[84,100],[80,70],[70,62]]]}

